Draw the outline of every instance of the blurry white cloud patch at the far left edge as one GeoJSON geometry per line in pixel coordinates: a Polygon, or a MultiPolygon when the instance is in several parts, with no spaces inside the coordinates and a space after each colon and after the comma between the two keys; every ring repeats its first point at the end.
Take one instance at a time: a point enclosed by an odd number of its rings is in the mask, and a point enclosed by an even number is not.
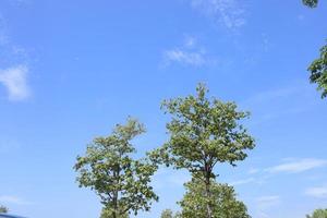
{"type": "Polygon", "coordinates": [[[5,86],[10,100],[24,100],[31,96],[27,73],[26,65],[0,70],[0,83],[5,86]]]}

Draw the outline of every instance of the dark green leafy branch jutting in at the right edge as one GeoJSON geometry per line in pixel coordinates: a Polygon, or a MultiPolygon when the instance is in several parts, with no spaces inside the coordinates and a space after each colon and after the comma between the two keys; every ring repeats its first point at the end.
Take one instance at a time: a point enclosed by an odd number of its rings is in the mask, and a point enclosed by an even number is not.
{"type": "Polygon", "coordinates": [[[322,97],[327,96],[327,45],[320,49],[320,57],[312,62],[308,68],[311,72],[310,81],[318,85],[317,89],[322,90],[322,97]]]}

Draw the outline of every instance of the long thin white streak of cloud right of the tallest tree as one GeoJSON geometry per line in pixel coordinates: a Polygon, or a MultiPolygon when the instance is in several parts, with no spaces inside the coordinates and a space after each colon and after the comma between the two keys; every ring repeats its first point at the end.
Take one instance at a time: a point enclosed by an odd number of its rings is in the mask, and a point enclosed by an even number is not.
{"type": "Polygon", "coordinates": [[[276,172],[288,172],[288,173],[298,173],[315,168],[320,168],[327,165],[327,160],[324,159],[300,159],[293,160],[286,164],[281,164],[271,168],[266,169],[266,171],[276,173],[276,172]]]}

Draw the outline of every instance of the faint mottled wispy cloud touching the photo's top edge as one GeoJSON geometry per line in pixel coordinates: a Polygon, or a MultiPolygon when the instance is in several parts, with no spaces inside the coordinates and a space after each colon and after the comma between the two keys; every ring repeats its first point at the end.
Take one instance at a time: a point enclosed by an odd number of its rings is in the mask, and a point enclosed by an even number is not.
{"type": "Polygon", "coordinates": [[[192,0],[192,7],[226,26],[237,29],[246,23],[245,10],[238,0],[192,0]]]}

